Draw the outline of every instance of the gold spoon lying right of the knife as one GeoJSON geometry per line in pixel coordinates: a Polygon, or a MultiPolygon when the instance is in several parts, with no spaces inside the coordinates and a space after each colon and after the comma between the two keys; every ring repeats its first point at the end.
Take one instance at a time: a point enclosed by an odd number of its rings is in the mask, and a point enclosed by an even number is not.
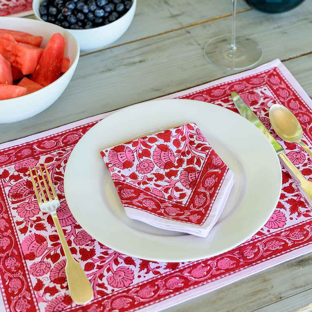
{"type": "Polygon", "coordinates": [[[312,152],[302,142],[303,131],[296,116],[285,106],[274,104],[270,107],[269,117],[276,134],[286,142],[300,144],[312,158],[312,152]]]}

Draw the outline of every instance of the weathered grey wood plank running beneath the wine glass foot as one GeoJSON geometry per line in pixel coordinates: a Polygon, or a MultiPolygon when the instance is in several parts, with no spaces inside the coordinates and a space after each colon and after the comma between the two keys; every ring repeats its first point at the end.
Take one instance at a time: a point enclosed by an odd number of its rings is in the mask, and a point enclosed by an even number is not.
{"type": "MultiPolygon", "coordinates": [[[[261,43],[265,51],[261,63],[287,59],[312,51],[311,10],[311,2],[280,15],[251,10],[239,14],[237,31],[261,43]]],[[[0,142],[232,74],[203,56],[206,41],[227,32],[229,24],[230,18],[219,19],[82,56],[60,99],[31,119],[0,125],[0,142]]]]}

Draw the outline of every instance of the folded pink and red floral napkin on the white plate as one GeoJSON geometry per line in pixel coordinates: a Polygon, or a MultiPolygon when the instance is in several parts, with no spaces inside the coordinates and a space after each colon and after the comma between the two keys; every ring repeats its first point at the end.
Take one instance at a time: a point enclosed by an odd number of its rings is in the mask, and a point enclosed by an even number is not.
{"type": "Polygon", "coordinates": [[[194,123],[101,155],[127,216],[166,230],[206,237],[234,183],[232,171],[194,123]]]}

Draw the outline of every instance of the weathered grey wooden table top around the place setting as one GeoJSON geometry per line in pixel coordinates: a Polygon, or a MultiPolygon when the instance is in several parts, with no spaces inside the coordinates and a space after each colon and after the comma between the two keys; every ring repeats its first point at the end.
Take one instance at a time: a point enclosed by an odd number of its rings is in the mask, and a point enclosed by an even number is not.
{"type": "MultiPolygon", "coordinates": [[[[237,11],[237,33],[264,49],[258,65],[280,58],[311,96],[312,1],[270,15],[238,0],[237,11]]],[[[230,12],[229,0],[138,0],[124,36],[103,50],[82,54],[63,95],[37,116],[0,125],[0,142],[235,73],[212,66],[203,56],[210,38],[230,32],[230,12]]],[[[295,311],[312,301],[311,271],[311,256],[303,256],[165,311],[295,311]]]]}

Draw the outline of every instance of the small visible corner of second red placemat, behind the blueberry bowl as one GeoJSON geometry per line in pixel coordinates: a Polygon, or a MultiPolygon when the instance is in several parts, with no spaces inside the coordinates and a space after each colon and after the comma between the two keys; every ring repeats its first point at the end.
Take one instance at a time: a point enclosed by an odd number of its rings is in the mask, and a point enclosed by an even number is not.
{"type": "Polygon", "coordinates": [[[18,15],[26,16],[32,14],[32,0],[1,0],[0,16],[18,15]]]}

